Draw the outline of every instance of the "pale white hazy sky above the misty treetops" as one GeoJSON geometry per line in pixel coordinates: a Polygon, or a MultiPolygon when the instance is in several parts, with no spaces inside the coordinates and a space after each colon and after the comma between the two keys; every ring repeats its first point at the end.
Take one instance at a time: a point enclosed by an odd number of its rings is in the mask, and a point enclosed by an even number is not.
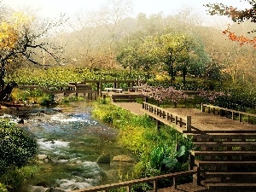
{"type": "MultiPolygon", "coordinates": [[[[4,4],[14,9],[24,9],[26,7],[37,9],[39,15],[55,17],[60,13],[74,15],[74,13],[83,10],[99,9],[102,3],[108,3],[108,0],[3,0],[4,4]]],[[[224,3],[234,7],[244,9],[249,6],[248,3],[241,0],[131,0],[133,13],[136,16],[139,13],[146,15],[158,14],[172,15],[178,10],[189,7],[195,9],[207,22],[212,22],[212,17],[207,15],[206,3],[224,3]]],[[[217,21],[218,22],[218,21],[217,21]]]]}

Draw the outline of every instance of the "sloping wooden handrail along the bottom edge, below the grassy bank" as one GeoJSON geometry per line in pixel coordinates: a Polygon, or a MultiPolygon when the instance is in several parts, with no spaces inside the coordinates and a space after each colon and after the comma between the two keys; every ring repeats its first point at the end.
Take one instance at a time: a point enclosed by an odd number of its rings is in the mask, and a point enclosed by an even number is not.
{"type": "Polygon", "coordinates": [[[158,189],[157,182],[160,181],[161,179],[171,178],[173,180],[173,183],[172,183],[173,188],[177,189],[177,177],[186,177],[194,174],[198,174],[198,172],[196,170],[189,170],[185,172],[174,172],[174,173],[155,176],[155,177],[145,177],[140,179],[134,179],[131,181],[96,186],[96,187],[87,188],[87,189],[78,189],[78,190],[73,190],[73,192],[97,192],[97,191],[107,192],[109,189],[119,189],[123,187],[126,187],[127,192],[131,192],[132,185],[139,184],[139,183],[152,183],[152,182],[154,183],[153,191],[157,192],[157,189],[158,189]]]}

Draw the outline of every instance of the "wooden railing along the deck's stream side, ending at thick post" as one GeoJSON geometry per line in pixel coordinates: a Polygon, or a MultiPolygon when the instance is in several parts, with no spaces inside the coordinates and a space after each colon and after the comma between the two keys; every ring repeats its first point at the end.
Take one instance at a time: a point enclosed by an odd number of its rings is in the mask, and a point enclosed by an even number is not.
{"type": "Polygon", "coordinates": [[[171,113],[164,108],[157,107],[148,102],[143,102],[143,109],[153,113],[161,119],[166,119],[175,125],[179,125],[180,127],[185,126],[187,132],[191,131],[191,116],[183,116],[177,113],[171,113]]]}

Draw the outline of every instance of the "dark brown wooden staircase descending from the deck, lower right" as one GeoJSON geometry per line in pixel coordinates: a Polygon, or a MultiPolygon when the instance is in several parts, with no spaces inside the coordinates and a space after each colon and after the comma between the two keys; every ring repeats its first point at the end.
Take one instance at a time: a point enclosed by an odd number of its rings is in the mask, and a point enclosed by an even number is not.
{"type": "Polygon", "coordinates": [[[256,191],[256,131],[188,133],[192,160],[213,191],[256,191]]]}

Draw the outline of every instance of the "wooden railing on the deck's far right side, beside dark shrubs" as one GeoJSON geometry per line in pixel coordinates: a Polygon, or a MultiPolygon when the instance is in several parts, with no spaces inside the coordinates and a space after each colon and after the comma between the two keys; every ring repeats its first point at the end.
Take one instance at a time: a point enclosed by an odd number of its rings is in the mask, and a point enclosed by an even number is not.
{"type": "Polygon", "coordinates": [[[218,106],[213,106],[213,105],[207,105],[201,103],[201,111],[207,113],[213,113],[213,114],[218,114],[220,116],[225,116],[226,118],[230,118],[233,120],[236,120],[236,117],[238,117],[239,122],[242,121],[242,117],[246,116],[247,117],[247,123],[250,123],[250,119],[253,117],[254,119],[256,118],[256,114],[253,113],[246,113],[246,112],[241,112],[241,111],[236,111],[230,108],[220,108],[218,106]]]}

